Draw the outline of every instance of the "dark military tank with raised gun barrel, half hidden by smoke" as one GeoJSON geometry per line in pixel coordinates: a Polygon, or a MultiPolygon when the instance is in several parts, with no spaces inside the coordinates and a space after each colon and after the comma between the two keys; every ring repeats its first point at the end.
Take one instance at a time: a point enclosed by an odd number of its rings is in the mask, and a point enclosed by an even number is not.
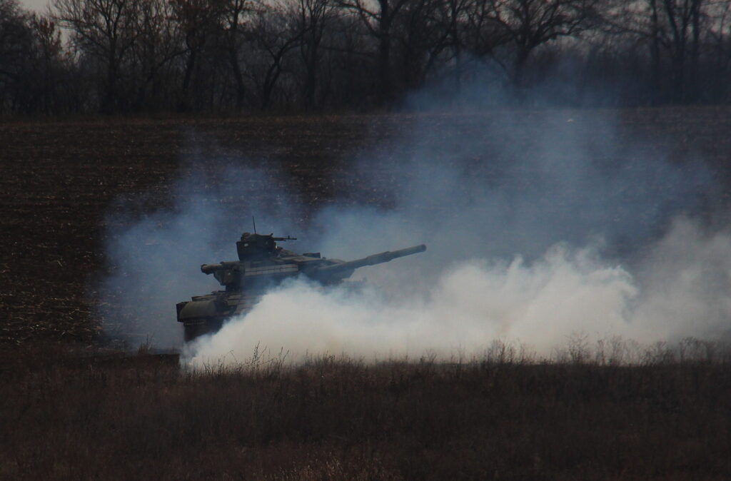
{"type": "Polygon", "coordinates": [[[426,250],[426,246],[421,244],[346,262],[327,259],[319,252],[297,254],[277,245],[281,241],[295,240],[292,237],[274,237],[273,234],[243,232],[240,241],[236,242],[238,260],[201,265],[201,272],[212,274],[224,290],[197,295],[192,300],[177,304],[178,322],[183,324],[185,341],[214,333],[231,317],[246,314],[265,292],[285,279],[306,276],[323,286],[338,285],[352,276],[357,268],[426,250]]]}

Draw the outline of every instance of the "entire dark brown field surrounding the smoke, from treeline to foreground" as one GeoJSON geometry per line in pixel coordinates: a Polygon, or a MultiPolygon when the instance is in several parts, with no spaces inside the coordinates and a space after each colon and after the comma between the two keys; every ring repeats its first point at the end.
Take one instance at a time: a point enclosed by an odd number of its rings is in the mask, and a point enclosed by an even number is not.
{"type": "MultiPolygon", "coordinates": [[[[731,178],[730,108],[609,114],[620,137],[649,138],[674,162],[700,156],[731,178]]],[[[387,140],[414,124],[477,135],[532,115],[0,121],[0,479],[731,477],[722,356],[632,367],[321,358],[190,373],[95,344],[90,285],[104,273],[110,213],[120,199],[142,211],[171,202],[201,145],[284,172],[306,205],[344,192],[346,202],[387,205],[389,189],[346,175],[359,151],[398,162],[387,140]]],[[[555,118],[591,132],[592,115],[555,118]]],[[[472,167],[489,175],[499,142],[485,137],[472,167]]],[[[387,169],[371,175],[398,185],[387,169]]]]}

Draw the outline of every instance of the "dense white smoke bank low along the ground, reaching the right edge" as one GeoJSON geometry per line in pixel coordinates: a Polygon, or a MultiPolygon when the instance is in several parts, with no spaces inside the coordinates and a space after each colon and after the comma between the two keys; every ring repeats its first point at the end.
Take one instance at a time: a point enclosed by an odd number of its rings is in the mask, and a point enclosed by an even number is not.
{"type": "MultiPolygon", "coordinates": [[[[731,233],[700,234],[678,219],[633,276],[595,248],[558,244],[526,263],[470,260],[444,270],[423,295],[385,297],[295,281],[250,314],[192,346],[204,366],[260,352],[369,359],[479,356],[495,339],[548,357],[584,333],[588,343],[621,336],[642,344],[724,337],[731,319],[731,233]]],[[[398,290],[398,287],[395,287],[398,290]]]]}

